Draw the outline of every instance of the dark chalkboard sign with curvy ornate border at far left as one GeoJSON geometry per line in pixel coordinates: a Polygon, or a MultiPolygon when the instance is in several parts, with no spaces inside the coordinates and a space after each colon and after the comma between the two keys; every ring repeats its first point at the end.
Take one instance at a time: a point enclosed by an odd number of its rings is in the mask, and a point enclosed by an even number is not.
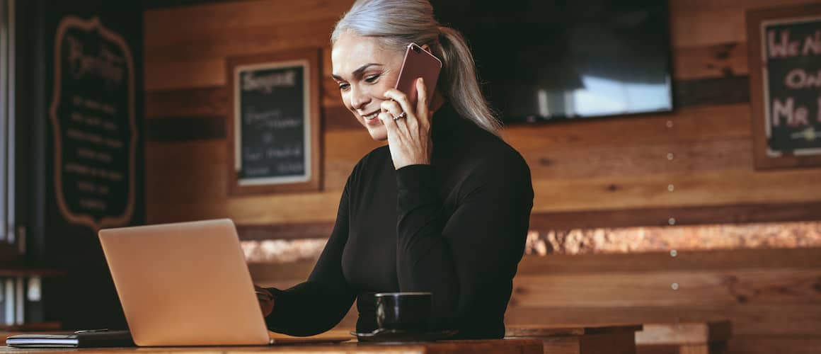
{"type": "Polygon", "coordinates": [[[57,205],[96,231],[135,208],[137,127],[131,48],[98,18],[64,16],[54,38],[50,117],[57,205]]]}

